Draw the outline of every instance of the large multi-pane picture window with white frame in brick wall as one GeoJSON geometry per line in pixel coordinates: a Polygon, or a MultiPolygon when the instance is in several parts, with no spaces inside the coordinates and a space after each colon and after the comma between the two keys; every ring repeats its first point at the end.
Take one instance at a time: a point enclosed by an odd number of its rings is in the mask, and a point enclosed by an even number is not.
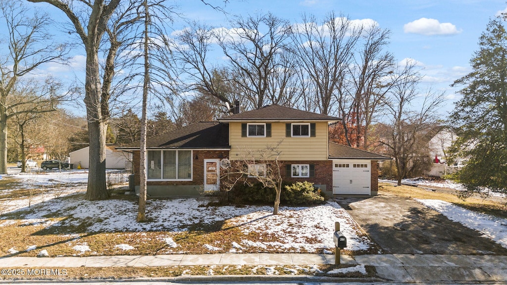
{"type": "Polygon", "coordinates": [[[192,180],[192,151],[148,151],[148,180],[192,180]]]}

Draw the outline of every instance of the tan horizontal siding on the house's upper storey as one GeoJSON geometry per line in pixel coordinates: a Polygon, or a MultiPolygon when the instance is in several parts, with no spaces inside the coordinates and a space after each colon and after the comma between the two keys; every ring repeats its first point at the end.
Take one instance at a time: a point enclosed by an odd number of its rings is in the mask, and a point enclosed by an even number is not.
{"type": "Polygon", "coordinates": [[[241,160],[245,151],[263,150],[266,146],[276,145],[280,140],[282,140],[279,147],[281,160],[328,159],[327,122],[315,122],[315,137],[285,137],[285,122],[271,123],[271,137],[241,137],[241,123],[231,122],[229,139],[231,160],[241,160]]]}

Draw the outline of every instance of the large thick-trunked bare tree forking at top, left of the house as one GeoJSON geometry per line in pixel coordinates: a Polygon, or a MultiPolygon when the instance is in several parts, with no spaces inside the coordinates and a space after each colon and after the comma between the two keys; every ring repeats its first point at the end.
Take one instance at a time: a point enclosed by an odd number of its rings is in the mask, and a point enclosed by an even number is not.
{"type": "Polygon", "coordinates": [[[88,132],[90,136],[90,158],[88,188],[85,198],[103,200],[109,197],[105,181],[105,134],[107,118],[104,118],[102,82],[98,50],[108,22],[115,13],[120,0],[27,0],[33,3],[48,3],[61,10],[70,20],[81,39],[86,53],[85,97],[88,132]]]}

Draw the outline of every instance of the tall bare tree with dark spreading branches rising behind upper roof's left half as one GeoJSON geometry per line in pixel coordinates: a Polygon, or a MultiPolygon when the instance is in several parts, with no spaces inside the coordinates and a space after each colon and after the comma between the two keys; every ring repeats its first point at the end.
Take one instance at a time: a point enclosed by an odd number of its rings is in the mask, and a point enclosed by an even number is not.
{"type": "Polygon", "coordinates": [[[232,29],[215,29],[213,34],[229,59],[232,80],[240,87],[237,92],[246,98],[249,108],[260,109],[270,99],[270,78],[287,63],[277,58],[287,47],[292,27],[271,13],[237,17],[231,25],[232,29]]]}

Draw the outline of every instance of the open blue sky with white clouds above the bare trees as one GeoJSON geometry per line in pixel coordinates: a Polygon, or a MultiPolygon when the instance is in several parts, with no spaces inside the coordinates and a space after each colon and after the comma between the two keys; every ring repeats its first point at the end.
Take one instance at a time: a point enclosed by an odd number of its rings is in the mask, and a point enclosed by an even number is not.
{"type": "MultiPolygon", "coordinates": [[[[209,0],[213,5],[223,4],[220,0],[209,0]]],[[[227,24],[223,13],[216,12],[200,0],[175,1],[179,11],[187,17],[206,22],[216,27],[227,24]]],[[[47,5],[33,5],[47,9],[47,5]]],[[[507,5],[504,0],[230,0],[225,11],[230,14],[247,16],[255,12],[271,12],[292,23],[300,23],[303,13],[313,14],[321,19],[334,11],[351,20],[372,19],[381,28],[391,31],[388,50],[397,61],[407,58],[416,60],[425,75],[425,86],[443,90],[449,97],[449,104],[442,113],[452,110],[452,102],[459,95],[457,88],[449,85],[470,72],[469,60],[478,49],[477,42],[488,21],[507,5]]],[[[64,16],[50,9],[56,18],[64,16]]],[[[3,22],[0,30],[3,30],[3,22]]],[[[183,28],[183,21],[174,22],[174,29],[183,28]]],[[[45,66],[41,72],[57,76],[71,77],[77,74],[84,77],[84,52],[78,47],[74,51],[71,66],[45,66]]],[[[84,82],[84,78],[81,79],[84,82]]]]}

